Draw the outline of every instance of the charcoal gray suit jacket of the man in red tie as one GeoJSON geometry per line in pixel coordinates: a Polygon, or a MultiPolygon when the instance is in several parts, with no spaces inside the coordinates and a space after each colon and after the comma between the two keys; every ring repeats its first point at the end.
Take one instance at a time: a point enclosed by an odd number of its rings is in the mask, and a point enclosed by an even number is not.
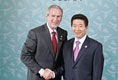
{"type": "MultiPolygon", "coordinates": [[[[57,34],[58,45],[55,57],[47,25],[29,31],[21,53],[21,60],[28,68],[27,80],[44,80],[38,73],[41,68],[54,70],[62,64],[62,47],[67,40],[67,31],[57,27],[57,34]]],[[[55,80],[59,79],[60,76],[55,80]]]]}

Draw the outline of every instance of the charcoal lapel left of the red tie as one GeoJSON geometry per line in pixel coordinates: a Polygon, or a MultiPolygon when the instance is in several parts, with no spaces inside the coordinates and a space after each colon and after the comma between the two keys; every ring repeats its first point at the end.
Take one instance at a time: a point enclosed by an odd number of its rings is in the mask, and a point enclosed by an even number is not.
{"type": "Polygon", "coordinates": [[[51,51],[51,54],[53,55],[53,57],[55,57],[54,51],[53,51],[53,45],[52,45],[52,40],[51,40],[50,32],[49,32],[46,24],[44,25],[43,35],[45,36],[44,40],[47,43],[47,46],[49,47],[49,49],[51,51]]]}

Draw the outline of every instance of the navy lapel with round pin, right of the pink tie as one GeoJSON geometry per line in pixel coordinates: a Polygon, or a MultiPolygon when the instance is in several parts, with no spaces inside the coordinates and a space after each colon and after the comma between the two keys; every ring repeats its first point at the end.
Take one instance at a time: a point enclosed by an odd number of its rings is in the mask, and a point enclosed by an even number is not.
{"type": "Polygon", "coordinates": [[[75,66],[80,61],[81,57],[84,54],[87,54],[88,47],[89,47],[89,38],[87,36],[86,39],[85,39],[85,41],[84,41],[84,43],[83,43],[83,45],[82,45],[82,47],[81,47],[81,50],[79,51],[79,54],[77,56],[77,60],[76,60],[76,62],[74,63],[73,66],[75,66]]]}

